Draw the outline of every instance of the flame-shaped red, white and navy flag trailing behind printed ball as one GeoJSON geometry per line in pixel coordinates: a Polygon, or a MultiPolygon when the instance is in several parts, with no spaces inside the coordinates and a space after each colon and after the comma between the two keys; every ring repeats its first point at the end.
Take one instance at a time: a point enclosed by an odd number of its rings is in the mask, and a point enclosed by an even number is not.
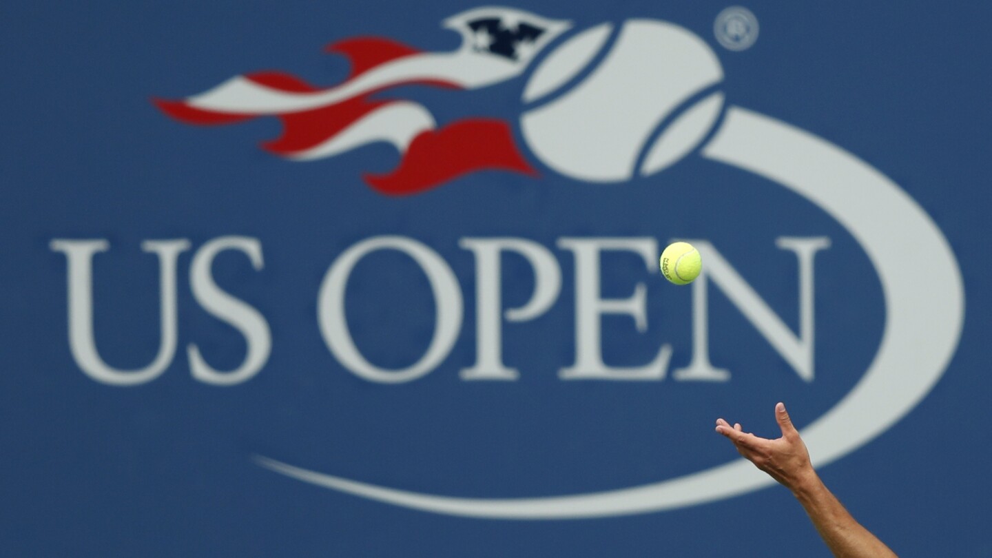
{"type": "Polygon", "coordinates": [[[382,38],[328,46],[327,52],[351,63],[350,75],[335,86],[315,87],[269,71],[237,75],[183,100],[154,102],[189,124],[277,116],[283,134],[262,148],[293,161],[332,157],[373,142],[392,143],[402,155],[397,168],[364,177],[383,194],[414,194],[484,169],[535,174],[504,120],[465,118],[438,128],[422,104],[371,97],[399,85],[475,89],[510,79],[570,25],[511,8],[478,8],[445,20],[443,27],[461,34],[457,50],[425,53],[382,38]]]}

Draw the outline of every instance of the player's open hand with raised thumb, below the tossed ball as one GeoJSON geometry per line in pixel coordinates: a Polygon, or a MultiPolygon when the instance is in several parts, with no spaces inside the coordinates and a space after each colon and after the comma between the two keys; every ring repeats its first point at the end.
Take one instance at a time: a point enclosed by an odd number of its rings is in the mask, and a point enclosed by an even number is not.
{"type": "Polygon", "coordinates": [[[758,469],[769,474],[786,488],[795,490],[815,473],[809,463],[806,444],[793,426],[785,404],[779,403],[775,406],[775,420],[782,430],[782,437],[774,440],[744,432],[740,423],[730,426],[730,423],[722,418],[716,419],[716,432],[733,442],[737,451],[758,469]]]}

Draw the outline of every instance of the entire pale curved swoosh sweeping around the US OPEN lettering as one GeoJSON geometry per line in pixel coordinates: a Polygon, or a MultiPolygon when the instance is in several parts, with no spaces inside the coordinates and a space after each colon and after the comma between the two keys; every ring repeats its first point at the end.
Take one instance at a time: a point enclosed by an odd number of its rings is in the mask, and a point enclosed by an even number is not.
{"type": "MultiPolygon", "coordinates": [[[[821,467],[870,442],[930,392],[957,347],[964,287],[950,245],[895,183],[854,155],[789,124],[739,107],[703,149],[804,196],[840,222],[875,264],[885,296],[878,353],[851,391],[803,430],[821,467]],[[880,218],[881,215],[886,218],[880,218]],[[927,254],[926,269],[919,265],[927,254]]],[[[378,487],[256,457],[262,467],[324,488],[435,513],[564,519],[674,509],[773,485],[737,460],[640,487],[534,498],[464,498],[378,487]]]]}

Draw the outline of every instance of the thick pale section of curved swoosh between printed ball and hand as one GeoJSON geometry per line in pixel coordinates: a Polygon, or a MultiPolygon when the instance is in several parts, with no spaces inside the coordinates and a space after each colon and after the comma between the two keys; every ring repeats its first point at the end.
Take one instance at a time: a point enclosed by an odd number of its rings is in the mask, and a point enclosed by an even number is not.
{"type": "Polygon", "coordinates": [[[964,322],[954,252],[924,209],[885,175],[779,120],[733,107],[703,155],[806,197],[875,264],[886,305],[878,353],[851,391],[803,430],[813,463],[825,465],[892,427],[943,375],[964,322]]]}

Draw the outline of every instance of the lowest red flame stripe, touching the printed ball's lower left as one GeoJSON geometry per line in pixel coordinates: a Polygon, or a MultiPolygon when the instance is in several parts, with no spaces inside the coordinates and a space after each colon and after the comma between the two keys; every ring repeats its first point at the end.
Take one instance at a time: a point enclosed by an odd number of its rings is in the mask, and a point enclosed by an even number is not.
{"type": "Polygon", "coordinates": [[[418,194],[459,176],[487,169],[538,174],[517,149],[509,124],[473,118],[421,133],[411,142],[396,170],[388,175],[364,178],[382,194],[402,196],[418,194]]]}

